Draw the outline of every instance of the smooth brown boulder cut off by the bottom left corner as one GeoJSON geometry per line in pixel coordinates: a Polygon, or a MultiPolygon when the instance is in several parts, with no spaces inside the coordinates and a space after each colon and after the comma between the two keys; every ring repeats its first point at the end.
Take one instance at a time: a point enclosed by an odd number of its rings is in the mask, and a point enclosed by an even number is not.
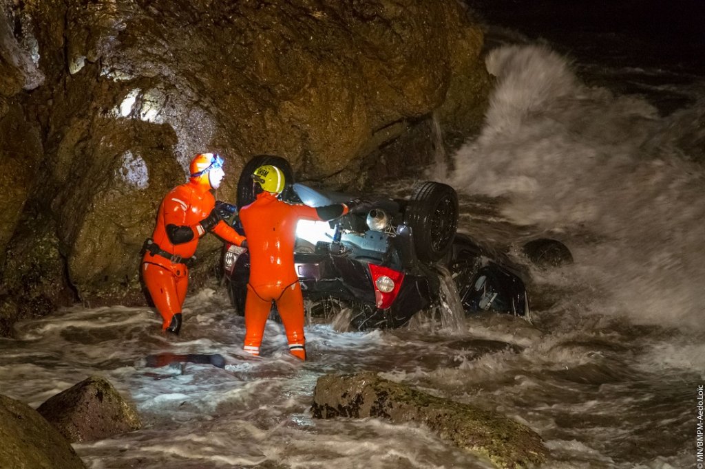
{"type": "Polygon", "coordinates": [[[0,394],[0,468],[85,469],[71,444],[30,406],[0,394]]]}

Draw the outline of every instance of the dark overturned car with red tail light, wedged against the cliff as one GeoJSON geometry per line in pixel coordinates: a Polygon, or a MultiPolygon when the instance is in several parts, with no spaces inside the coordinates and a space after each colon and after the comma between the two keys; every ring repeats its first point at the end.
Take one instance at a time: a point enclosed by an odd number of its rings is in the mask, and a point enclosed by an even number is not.
{"type": "MultiPolygon", "coordinates": [[[[237,208],[255,200],[250,174],[261,165],[283,171],[287,185],[281,199],[292,204],[326,206],[352,197],[293,183],[284,158],[261,155],[243,168],[237,208]]],[[[529,320],[518,270],[457,232],[458,195],[452,187],[429,181],[405,199],[367,199],[371,208],[365,213],[298,223],[295,268],[312,314],[330,315],[333,309],[349,307],[353,329],[399,327],[419,311],[439,306],[441,283],[450,282],[466,313],[489,310],[529,320]]],[[[242,232],[236,216],[231,223],[242,232]]],[[[245,249],[225,246],[224,278],[239,313],[245,309],[249,262],[245,249]]]]}

